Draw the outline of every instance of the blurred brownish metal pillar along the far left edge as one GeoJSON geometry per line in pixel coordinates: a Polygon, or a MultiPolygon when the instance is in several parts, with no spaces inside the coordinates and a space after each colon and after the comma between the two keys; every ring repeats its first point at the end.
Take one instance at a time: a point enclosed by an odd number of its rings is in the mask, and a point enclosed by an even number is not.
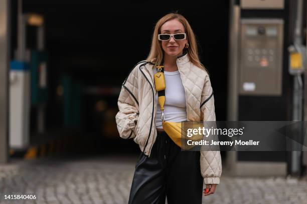
{"type": "Polygon", "coordinates": [[[0,0],[0,163],[9,153],[10,0],[0,0]]]}

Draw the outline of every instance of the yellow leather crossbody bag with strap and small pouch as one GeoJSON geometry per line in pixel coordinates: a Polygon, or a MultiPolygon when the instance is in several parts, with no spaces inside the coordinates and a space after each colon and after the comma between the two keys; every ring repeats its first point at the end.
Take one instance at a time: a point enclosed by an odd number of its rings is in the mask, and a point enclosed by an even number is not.
{"type": "MultiPolygon", "coordinates": [[[[156,90],[158,91],[158,101],[159,101],[161,113],[162,113],[161,114],[162,126],[163,126],[163,129],[166,131],[166,133],[170,136],[170,138],[178,146],[180,146],[184,150],[189,150],[195,145],[189,145],[188,140],[199,141],[203,139],[203,135],[194,134],[193,136],[188,137],[187,136],[188,134],[185,131],[185,129],[187,128],[183,128],[181,122],[165,121],[164,103],[165,103],[166,82],[165,82],[165,76],[164,76],[163,69],[164,69],[164,65],[157,66],[157,73],[154,75],[155,86],[156,86],[156,90]]],[[[201,123],[198,123],[196,126],[195,125],[192,125],[192,126],[194,126],[194,128],[198,128],[198,127],[202,128],[203,125],[201,123]]]]}

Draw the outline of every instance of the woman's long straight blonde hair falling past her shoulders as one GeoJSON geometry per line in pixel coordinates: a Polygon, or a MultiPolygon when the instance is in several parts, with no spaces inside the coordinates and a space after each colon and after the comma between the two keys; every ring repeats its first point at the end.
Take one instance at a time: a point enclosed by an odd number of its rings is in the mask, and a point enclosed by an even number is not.
{"type": "Polygon", "coordinates": [[[178,14],[178,13],[169,13],[163,16],[162,18],[160,18],[160,20],[158,20],[155,26],[154,34],[152,35],[150,52],[146,60],[152,63],[155,63],[155,65],[159,65],[162,63],[163,57],[164,57],[164,50],[162,48],[160,41],[158,40],[158,34],[160,34],[161,32],[162,25],[165,22],[169,20],[173,20],[173,19],[178,19],[185,27],[185,32],[187,33],[187,39],[189,43],[189,47],[185,49],[188,52],[190,61],[194,65],[200,68],[204,68],[207,71],[205,66],[199,60],[196,38],[191,28],[191,25],[189,24],[188,20],[183,15],[178,14]]]}

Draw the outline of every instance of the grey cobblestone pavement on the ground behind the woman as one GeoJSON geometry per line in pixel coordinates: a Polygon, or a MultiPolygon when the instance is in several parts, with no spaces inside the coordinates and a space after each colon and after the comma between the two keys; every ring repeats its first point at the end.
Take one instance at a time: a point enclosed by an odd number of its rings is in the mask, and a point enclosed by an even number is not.
{"type": "MultiPolygon", "coordinates": [[[[127,203],[136,157],[15,160],[0,165],[0,203],[127,203]],[[5,200],[5,195],[36,199],[5,200]]],[[[307,203],[307,179],[223,176],[203,203],[307,203]]]]}

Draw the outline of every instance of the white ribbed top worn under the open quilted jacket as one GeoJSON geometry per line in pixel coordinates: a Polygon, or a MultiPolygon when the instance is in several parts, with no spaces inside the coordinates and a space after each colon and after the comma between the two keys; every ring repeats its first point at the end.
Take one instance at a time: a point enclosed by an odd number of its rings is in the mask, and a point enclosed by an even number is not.
{"type": "MultiPolygon", "coordinates": [[[[154,71],[157,73],[157,69],[154,71]]],[[[164,104],[164,116],[165,121],[180,122],[187,121],[187,103],[186,92],[182,84],[179,70],[177,71],[164,71],[165,75],[165,104],[164,104]]],[[[158,101],[158,91],[156,93],[156,128],[162,127],[161,109],[158,101]]]]}

